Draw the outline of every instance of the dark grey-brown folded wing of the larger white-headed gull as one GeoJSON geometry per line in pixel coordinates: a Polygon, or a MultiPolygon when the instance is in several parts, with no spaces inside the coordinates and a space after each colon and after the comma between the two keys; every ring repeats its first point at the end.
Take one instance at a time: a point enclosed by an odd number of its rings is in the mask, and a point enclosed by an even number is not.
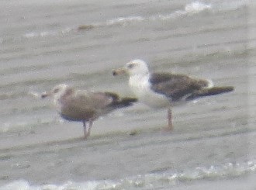
{"type": "Polygon", "coordinates": [[[178,101],[184,96],[205,88],[208,81],[189,78],[185,74],[153,73],[150,75],[151,89],[178,101]]]}

